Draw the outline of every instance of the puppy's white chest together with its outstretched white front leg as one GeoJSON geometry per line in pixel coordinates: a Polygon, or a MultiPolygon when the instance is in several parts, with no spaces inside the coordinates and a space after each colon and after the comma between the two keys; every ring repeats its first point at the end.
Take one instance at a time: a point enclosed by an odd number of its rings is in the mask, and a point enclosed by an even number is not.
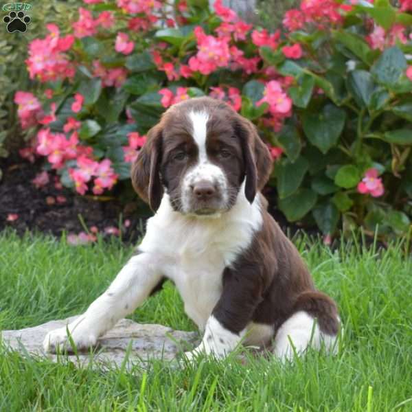
{"type": "MultiPolygon", "coordinates": [[[[188,316],[203,330],[222,291],[222,272],[249,247],[262,226],[260,197],[250,204],[242,186],[236,204],[220,218],[185,216],[172,209],[168,194],[148,219],[146,236],[106,293],[68,326],[76,346],[94,345],[117,320],[135,310],[162,276],[178,288],[188,316]],[[111,295],[109,295],[111,294],[111,295]],[[127,308],[126,308],[127,306],[127,308]]],[[[47,334],[45,350],[69,346],[66,328],[47,334]]]]}

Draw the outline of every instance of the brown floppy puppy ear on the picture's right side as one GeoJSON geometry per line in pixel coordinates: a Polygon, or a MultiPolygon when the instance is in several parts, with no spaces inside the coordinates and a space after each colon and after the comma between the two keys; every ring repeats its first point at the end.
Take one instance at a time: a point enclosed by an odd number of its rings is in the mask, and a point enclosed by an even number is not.
{"type": "Polygon", "coordinates": [[[255,125],[244,117],[239,117],[237,133],[242,144],[246,183],[244,194],[252,203],[256,192],[266,185],[271,176],[273,161],[268,147],[258,135],[255,125]]]}

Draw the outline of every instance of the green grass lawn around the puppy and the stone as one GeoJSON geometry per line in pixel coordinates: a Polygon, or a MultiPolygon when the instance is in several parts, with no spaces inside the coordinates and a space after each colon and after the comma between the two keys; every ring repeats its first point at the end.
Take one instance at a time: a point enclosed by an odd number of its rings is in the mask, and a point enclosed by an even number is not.
{"type": "MultiPolygon", "coordinates": [[[[412,262],[405,242],[386,251],[356,242],[332,252],[297,240],[318,288],[339,304],[337,356],[309,352],[293,365],[247,354],[216,363],[102,371],[0,349],[1,411],[412,411],[412,262]]],[[[87,308],[132,249],[117,242],[67,247],[41,236],[0,235],[0,329],[87,308]]],[[[194,330],[172,286],[133,319],[194,330]]]]}

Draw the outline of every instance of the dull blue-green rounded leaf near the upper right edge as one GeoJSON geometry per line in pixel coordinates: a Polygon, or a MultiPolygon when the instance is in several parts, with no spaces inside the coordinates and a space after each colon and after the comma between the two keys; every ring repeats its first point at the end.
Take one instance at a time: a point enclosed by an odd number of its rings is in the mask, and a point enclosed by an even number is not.
{"type": "Polygon", "coordinates": [[[399,47],[389,47],[376,61],[371,73],[376,80],[391,89],[407,69],[407,59],[399,47]]]}

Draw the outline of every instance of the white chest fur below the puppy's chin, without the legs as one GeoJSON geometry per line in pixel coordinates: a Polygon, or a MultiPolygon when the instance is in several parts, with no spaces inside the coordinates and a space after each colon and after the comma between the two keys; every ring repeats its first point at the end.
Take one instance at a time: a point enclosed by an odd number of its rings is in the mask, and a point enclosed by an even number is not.
{"type": "Polygon", "coordinates": [[[259,196],[250,204],[243,187],[236,205],[213,218],[184,216],[170,207],[165,194],[139,249],[158,257],[161,272],[181,293],[187,315],[203,330],[222,292],[223,270],[261,225],[259,196]]]}

